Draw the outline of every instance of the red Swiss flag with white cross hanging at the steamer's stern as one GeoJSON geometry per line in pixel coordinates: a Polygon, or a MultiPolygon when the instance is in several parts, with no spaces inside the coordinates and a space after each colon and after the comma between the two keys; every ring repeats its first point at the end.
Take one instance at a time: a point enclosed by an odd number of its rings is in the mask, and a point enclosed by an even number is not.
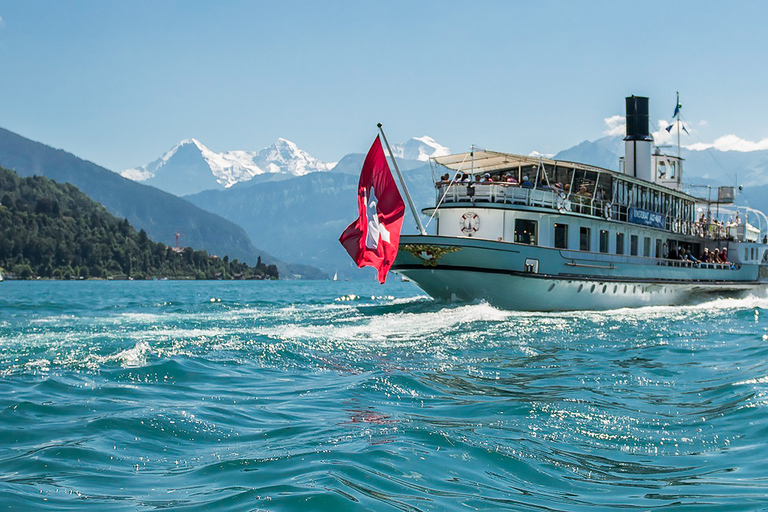
{"type": "Polygon", "coordinates": [[[341,234],[339,242],[357,266],[375,267],[379,282],[387,279],[397,256],[405,203],[392,179],[381,141],[373,141],[357,185],[359,216],[341,234]]]}

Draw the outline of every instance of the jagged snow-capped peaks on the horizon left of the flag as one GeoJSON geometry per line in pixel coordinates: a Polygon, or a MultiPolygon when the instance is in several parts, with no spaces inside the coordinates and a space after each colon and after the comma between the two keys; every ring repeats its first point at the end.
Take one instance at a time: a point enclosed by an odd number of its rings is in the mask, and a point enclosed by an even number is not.
{"type": "Polygon", "coordinates": [[[197,139],[186,139],[154,162],[120,174],[182,196],[229,188],[263,174],[303,176],[330,170],[334,165],[321,162],[286,139],[278,139],[260,151],[223,153],[210,150],[197,139]]]}

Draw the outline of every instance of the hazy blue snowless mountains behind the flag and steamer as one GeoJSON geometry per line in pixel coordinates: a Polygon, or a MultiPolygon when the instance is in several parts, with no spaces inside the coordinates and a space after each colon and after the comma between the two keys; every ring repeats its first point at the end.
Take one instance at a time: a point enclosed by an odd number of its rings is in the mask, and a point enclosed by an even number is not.
{"type": "MultiPolygon", "coordinates": [[[[618,170],[623,146],[621,137],[604,137],[584,141],[553,158],[618,170]]],[[[413,157],[419,153],[396,155],[413,157]]],[[[768,200],[764,199],[768,197],[768,151],[738,153],[683,148],[682,156],[686,159],[688,192],[705,197],[707,186],[733,184],[738,172],[739,182],[749,185],[739,202],[768,210],[768,200]]],[[[357,178],[364,158],[363,154],[352,153],[341,158],[331,171],[270,183],[240,183],[227,190],[208,190],[185,197],[242,226],[251,238],[263,241],[267,251],[282,258],[290,255],[346,278],[368,277],[354,266],[338,243],[339,234],[357,216],[357,178]]],[[[397,160],[417,209],[433,205],[430,166],[421,159],[397,160]]],[[[426,217],[422,220],[425,224],[429,222],[426,217]]],[[[414,224],[406,213],[404,232],[415,232],[414,224]]]]}

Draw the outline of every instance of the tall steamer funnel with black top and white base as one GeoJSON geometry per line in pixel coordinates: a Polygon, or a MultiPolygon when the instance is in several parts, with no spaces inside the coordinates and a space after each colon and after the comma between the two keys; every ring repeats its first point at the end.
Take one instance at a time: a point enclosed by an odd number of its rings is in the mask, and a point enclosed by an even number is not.
{"type": "Polygon", "coordinates": [[[653,137],[648,130],[648,98],[627,98],[627,136],[624,137],[624,173],[646,181],[653,181],[651,173],[651,145],[653,137]]]}

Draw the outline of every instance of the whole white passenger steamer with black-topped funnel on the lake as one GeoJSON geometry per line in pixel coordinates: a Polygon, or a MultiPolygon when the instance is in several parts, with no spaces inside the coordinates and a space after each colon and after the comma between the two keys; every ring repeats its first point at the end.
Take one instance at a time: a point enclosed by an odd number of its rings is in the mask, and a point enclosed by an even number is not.
{"type": "Polygon", "coordinates": [[[438,174],[454,177],[438,181],[436,206],[423,210],[435,234],[403,235],[392,270],[437,299],[513,310],[680,304],[763,289],[768,218],[735,207],[734,187],[715,199],[685,193],[679,151],[653,148],[648,98],[626,106],[619,172],[485,150],[434,158],[438,174]],[[725,249],[727,262],[702,261],[705,249],[725,249]]]}

